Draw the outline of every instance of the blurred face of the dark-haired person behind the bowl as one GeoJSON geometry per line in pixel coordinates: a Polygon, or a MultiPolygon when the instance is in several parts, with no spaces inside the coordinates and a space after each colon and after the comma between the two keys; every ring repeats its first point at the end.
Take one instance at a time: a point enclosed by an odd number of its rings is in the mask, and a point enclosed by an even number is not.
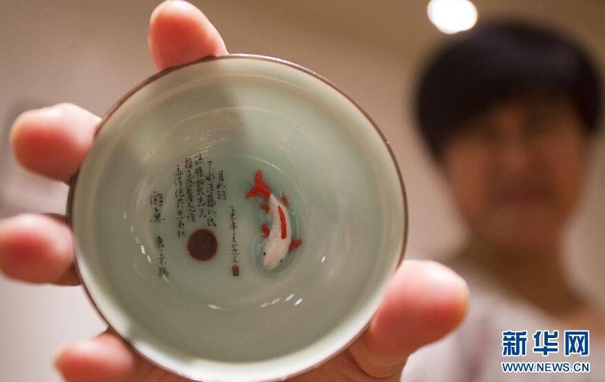
{"type": "Polygon", "coordinates": [[[580,199],[587,138],[564,101],[514,100],[465,123],[443,167],[471,233],[508,251],[551,251],[580,199]]]}

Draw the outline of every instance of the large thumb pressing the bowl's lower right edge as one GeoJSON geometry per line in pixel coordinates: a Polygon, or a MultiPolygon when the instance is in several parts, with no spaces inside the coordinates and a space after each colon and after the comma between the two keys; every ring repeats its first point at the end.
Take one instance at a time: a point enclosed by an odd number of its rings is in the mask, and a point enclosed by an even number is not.
{"type": "Polygon", "coordinates": [[[466,315],[465,281],[436,262],[407,260],[391,280],[379,311],[349,351],[373,377],[398,373],[405,359],[441,339],[466,315]]]}

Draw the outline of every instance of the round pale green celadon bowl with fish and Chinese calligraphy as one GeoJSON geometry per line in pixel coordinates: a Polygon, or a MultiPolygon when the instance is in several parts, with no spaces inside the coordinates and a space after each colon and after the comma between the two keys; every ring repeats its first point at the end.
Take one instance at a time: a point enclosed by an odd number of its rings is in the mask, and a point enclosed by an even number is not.
{"type": "Polygon", "coordinates": [[[392,151],[328,80],[233,54],[167,69],[72,178],[76,265],[107,324],[195,381],[272,381],[368,325],[401,262],[392,151]]]}

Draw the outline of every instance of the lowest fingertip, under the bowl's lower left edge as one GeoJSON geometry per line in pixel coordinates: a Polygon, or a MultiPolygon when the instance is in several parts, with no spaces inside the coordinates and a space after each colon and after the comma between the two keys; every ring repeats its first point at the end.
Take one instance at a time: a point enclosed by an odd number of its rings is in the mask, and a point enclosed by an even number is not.
{"type": "Polygon", "coordinates": [[[67,382],[184,381],[151,365],[108,332],[65,346],[54,366],[67,382]]]}

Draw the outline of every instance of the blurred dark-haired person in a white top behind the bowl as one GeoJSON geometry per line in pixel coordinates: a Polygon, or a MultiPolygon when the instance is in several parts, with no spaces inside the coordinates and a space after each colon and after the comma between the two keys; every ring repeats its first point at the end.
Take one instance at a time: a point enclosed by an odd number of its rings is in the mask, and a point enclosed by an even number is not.
{"type": "Polygon", "coordinates": [[[428,63],[415,112],[468,227],[449,265],[469,283],[471,304],[460,330],[410,358],[405,381],[605,381],[605,315],[570,284],[562,262],[601,96],[580,45],[522,21],[460,34],[428,63]],[[516,341],[523,330],[527,340],[516,341]],[[558,351],[544,350],[544,330],[558,351]],[[564,330],[589,330],[587,358],[564,356],[564,330]],[[524,357],[509,357],[522,346],[524,357]],[[507,374],[507,361],[592,367],[507,374]]]}

